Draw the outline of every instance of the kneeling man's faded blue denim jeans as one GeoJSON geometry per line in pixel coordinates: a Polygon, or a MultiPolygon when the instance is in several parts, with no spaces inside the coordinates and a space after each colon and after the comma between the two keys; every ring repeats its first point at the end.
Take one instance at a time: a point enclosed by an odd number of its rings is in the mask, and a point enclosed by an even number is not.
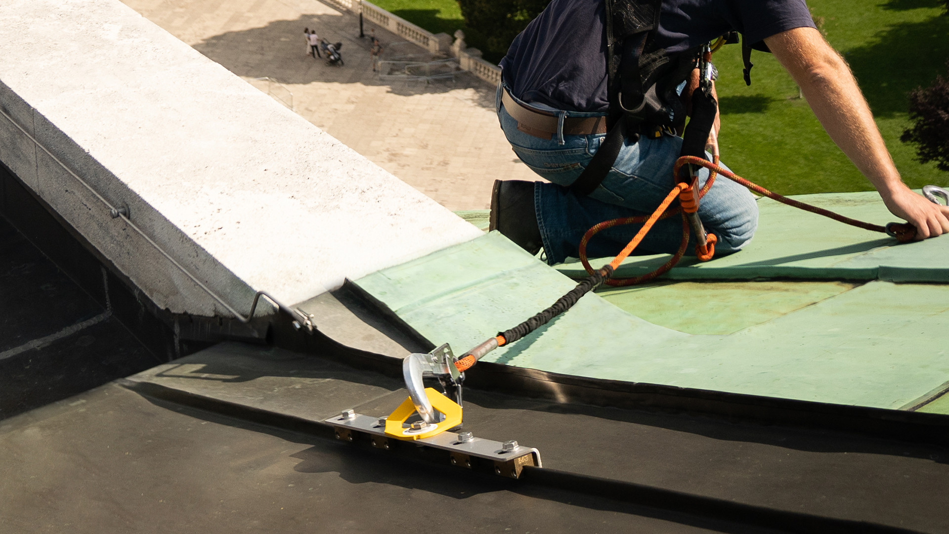
{"type": "MultiPolygon", "coordinates": [[[[514,153],[531,170],[552,182],[538,181],[534,185],[537,225],[551,265],[561,263],[567,257],[577,257],[580,239],[594,224],[608,219],[648,215],[675,186],[672,167],[679,158],[682,138],[668,135],[659,139],[641,137],[636,143],[623,145],[612,170],[596,190],[586,197],[575,196],[567,186],[584,171],[606,134],[561,134],[551,140],[540,139],[517,129],[517,122],[500,104],[500,98],[497,107],[501,128],[514,153]]],[[[597,115],[561,113],[567,117],[597,115]]],[[[705,184],[708,175],[706,169],[701,170],[699,185],[705,184]]],[[[716,235],[716,256],[719,256],[733,253],[751,240],[758,224],[758,207],[748,189],[718,177],[702,198],[698,216],[705,229],[716,235]]],[[[641,226],[628,224],[604,230],[587,244],[587,256],[616,256],[641,226]]],[[[653,226],[634,254],[674,254],[681,239],[681,218],[663,219],[653,226]]],[[[692,236],[686,254],[695,254],[695,244],[695,236],[692,236]]]]}

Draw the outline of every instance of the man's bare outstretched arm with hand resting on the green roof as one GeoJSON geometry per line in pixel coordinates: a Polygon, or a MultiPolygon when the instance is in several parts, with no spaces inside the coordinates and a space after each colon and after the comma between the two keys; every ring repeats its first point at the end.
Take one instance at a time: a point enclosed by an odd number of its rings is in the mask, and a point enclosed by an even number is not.
{"type": "Polygon", "coordinates": [[[774,57],[801,87],[830,139],[869,180],[893,215],[917,228],[917,239],[949,233],[949,207],[913,193],[900,178],[847,62],[812,28],[765,39],[774,57]]]}

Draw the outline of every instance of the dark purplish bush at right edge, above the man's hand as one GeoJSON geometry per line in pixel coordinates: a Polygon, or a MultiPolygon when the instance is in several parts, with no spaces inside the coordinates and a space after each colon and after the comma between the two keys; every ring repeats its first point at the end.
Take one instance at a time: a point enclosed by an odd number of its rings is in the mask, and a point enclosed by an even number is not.
{"type": "Polygon", "coordinates": [[[913,126],[902,132],[900,141],[917,145],[920,162],[936,162],[937,168],[949,171],[949,77],[937,76],[932,86],[909,93],[909,118],[913,126]]]}

